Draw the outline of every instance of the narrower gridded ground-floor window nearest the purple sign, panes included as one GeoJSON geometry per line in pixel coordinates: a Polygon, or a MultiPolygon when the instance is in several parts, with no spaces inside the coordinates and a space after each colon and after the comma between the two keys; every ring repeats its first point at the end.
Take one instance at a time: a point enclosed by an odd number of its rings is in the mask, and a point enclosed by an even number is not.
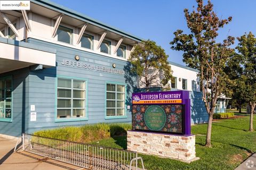
{"type": "Polygon", "coordinates": [[[107,83],[107,116],[125,115],[125,86],[107,83]]]}

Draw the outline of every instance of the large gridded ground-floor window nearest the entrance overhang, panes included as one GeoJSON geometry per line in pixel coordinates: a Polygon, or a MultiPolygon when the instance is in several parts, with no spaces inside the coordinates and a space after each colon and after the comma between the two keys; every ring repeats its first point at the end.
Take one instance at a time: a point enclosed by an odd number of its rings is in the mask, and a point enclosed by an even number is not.
{"type": "Polygon", "coordinates": [[[85,117],[86,81],[58,78],[57,118],[85,117]]]}

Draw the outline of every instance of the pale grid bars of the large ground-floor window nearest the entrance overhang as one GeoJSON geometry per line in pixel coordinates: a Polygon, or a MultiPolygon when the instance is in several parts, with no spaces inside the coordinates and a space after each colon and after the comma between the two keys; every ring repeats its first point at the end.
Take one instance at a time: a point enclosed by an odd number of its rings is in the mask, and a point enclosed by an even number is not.
{"type": "MultiPolygon", "coordinates": [[[[64,79],[64,78],[60,78],[60,79],[64,79]]],[[[61,118],[61,117],[58,117],[58,110],[61,110],[61,109],[70,109],[70,117],[66,117],[66,118],[74,118],[74,116],[73,116],[73,110],[74,109],[84,109],[83,117],[86,117],[86,81],[78,80],[78,81],[83,81],[84,82],[84,88],[83,89],[77,89],[77,88],[74,88],[74,86],[73,86],[74,85],[74,80],[76,80],[76,79],[65,79],[65,80],[71,80],[71,88],[58,87],[58,90],[59,89],[71,90],[71,97],[58,97],[57,96],[57,118],[61,118]],[[74,98],[74,96],[73,96],[74,95],[74,90],[84,91],[84,98],[74,98]],[[58,99],[69,99],[69,100],[71,100],[71,104],[70,104],[71,107],[58,107],[58,99]],[[84,107],[73,107],[74,100],[84,100],[84,107]]]]}

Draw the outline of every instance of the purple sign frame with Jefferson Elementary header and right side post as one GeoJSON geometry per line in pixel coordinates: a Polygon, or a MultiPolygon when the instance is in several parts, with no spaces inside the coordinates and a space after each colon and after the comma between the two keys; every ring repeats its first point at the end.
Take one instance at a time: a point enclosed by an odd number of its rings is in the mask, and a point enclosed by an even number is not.
{"type": "MultiPolygon", "coordinates": [[[[182,105],[183,135],[191,134],[189,91],[140,92],[132,94],[132,105],[182,105]]],[[[161,131],[159,131],[161,132],[161,131]]]]}

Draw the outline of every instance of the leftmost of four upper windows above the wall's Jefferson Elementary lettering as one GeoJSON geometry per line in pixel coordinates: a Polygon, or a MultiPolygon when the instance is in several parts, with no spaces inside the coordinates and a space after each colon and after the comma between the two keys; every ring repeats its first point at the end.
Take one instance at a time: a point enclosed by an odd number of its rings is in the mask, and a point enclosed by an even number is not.
{"type": "Polygon", "coordinates": [[[63,26],[59,26],[58,30],[57,30],[57,34],[58,34],[58,41],[61,41],[63,43],[68,43],[68,44],[72,44],[72,33],[73,30],[63,27],[63,26]]]}

